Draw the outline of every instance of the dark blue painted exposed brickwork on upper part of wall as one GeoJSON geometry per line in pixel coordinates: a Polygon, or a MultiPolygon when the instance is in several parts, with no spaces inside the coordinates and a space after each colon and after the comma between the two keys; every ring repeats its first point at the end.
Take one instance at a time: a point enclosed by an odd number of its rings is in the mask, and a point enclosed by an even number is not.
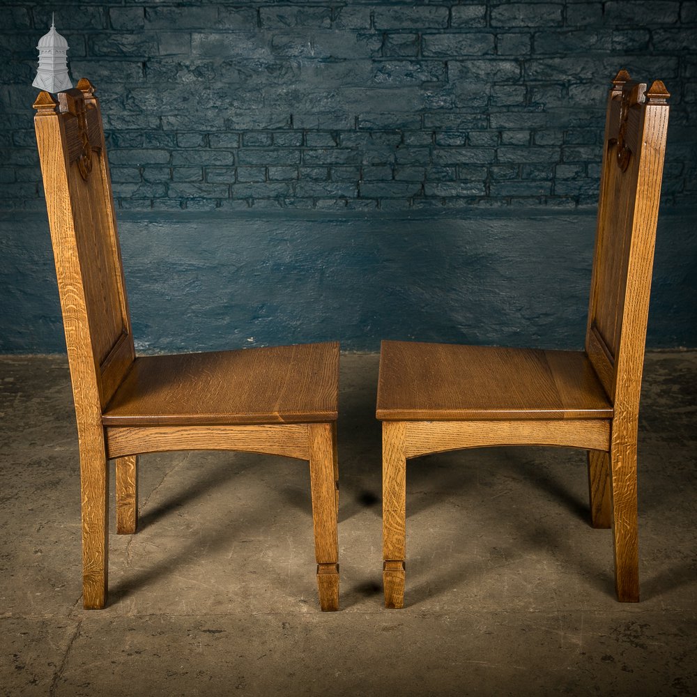
{"type": "Polygon", "coordinates": [[[52,10],[102,98],[121,209],[595,204],[618,68],[666,82],[664,199],[694,198],[694,0],[10,0],[0,209],[43,209],[31,82],[52,10]]]}

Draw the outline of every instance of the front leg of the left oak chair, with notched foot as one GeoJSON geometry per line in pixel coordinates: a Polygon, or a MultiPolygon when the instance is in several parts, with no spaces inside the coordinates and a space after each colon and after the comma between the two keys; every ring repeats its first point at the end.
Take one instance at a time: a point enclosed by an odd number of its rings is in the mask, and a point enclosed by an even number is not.
{"type": "Polygon", "coordinates": [[[309,475],[319,602],[323,611],[339,609],[336,424],[309,424],[309,475]]]}

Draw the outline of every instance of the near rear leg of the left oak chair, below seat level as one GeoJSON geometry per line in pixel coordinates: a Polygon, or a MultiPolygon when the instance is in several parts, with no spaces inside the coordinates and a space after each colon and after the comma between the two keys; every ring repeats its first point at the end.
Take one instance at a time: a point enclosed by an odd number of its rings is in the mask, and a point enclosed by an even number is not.
{"type": "Polygon", "coordinates": [[[109,567],[109,461],[102,434],[81,435],[82,590],[84,607],[98,610],[107,602],[109,567]]]}

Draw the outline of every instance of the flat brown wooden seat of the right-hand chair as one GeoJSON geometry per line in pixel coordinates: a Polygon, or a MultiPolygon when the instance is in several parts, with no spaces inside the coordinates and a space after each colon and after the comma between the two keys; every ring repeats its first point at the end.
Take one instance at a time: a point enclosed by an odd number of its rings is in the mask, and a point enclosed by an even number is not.
{"type": "Polygon", "coordinates": [[[383,342],[383,421],[611,418],[583,351],[383,342]]]}

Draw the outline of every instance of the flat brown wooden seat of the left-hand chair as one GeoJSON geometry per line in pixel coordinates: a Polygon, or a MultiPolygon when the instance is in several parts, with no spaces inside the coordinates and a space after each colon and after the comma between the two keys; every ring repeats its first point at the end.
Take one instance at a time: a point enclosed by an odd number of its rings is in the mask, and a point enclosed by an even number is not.
{"type": "Polygon", "coordinates": [[[327,422],[337,418],[339,344],[137,358],[107,426],[327,422]]]}

